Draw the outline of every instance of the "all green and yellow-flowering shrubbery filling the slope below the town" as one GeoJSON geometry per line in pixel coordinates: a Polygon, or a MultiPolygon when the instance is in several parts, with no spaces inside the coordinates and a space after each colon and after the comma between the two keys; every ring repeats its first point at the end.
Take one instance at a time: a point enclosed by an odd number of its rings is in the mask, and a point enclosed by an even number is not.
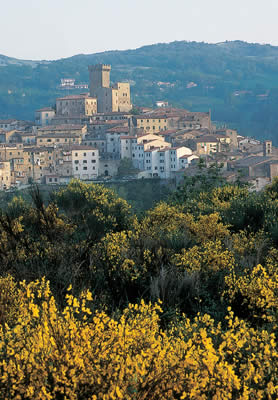
{"type": "Polygon", "coordinates": [[[79,181],[2,210],[1,398],[278,397],[278,180],[188,179],[144,215],[79,181]]]}

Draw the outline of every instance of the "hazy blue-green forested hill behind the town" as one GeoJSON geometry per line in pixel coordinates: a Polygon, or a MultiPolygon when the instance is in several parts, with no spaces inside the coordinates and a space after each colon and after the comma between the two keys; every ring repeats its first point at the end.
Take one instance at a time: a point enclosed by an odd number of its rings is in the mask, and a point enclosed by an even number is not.
{"type": "Polygon", "coordinates": [[[0,118],[33,119],[35,109],[67,94],[58,89],[61,78],[88,82],[95,63],[111,64],[113,81],[130,81],[136,105],[166,100],[211,109],[213,120],[278,144],[278,47],[241,41],[181,41],[41,62],[0,55],[0,118]]]}

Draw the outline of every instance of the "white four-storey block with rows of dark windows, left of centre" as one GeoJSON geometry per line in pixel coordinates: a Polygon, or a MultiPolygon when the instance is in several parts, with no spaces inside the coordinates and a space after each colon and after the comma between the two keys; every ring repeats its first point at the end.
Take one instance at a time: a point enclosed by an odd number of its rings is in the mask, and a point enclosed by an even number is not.
{"type": "Polygon", "coordinates": [[[72,171],[74,178],[96,179],[99,175],[99,151],[91,146],[73,146],[72,171]]]}

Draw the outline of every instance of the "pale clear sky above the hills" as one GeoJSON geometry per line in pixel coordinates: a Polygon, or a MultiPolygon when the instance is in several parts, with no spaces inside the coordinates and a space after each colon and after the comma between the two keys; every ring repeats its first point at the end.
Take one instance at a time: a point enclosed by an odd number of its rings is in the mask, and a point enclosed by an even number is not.
{"type": "Polygon", "coordinates": [[[278,46],[278,0],[0,0],[0,54],[53,60],[175,40],[278,46]]]}

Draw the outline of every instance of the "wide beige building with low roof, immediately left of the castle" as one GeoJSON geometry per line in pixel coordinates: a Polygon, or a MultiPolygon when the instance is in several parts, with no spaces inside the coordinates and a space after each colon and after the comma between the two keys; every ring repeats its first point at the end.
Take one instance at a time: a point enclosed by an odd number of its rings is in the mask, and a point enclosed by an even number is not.
{"type": "Polygon", "coordinates": [[[92,116],[97,113],[97,99],[87,94],[56,99],[57,116],[92,116]]]}

